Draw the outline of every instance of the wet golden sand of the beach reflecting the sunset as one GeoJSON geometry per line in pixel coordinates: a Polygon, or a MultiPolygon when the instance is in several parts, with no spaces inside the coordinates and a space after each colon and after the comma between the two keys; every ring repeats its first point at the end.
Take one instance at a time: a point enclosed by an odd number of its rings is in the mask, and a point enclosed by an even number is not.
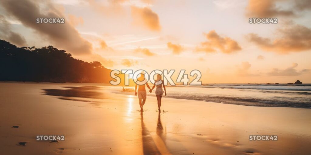
{"type": "Polygon", "coordinates": [[[147,96],[140,112],[137,96],[115,91],[90,83],[0,82],[0,154],[311,154],[311,109],[162,98],[159,113],[156,97],[147,96]]]}

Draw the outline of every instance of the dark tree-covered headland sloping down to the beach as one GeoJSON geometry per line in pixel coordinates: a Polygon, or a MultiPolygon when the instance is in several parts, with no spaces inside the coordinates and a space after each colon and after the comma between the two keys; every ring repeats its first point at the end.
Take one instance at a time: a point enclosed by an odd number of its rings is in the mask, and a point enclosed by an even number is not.
{"type": "Polygon", "coordinates": [[[0,40],[1,81],[109,83],[110,72],[100,62],[74,59],[53,46],[19,48],[0,40]]]}

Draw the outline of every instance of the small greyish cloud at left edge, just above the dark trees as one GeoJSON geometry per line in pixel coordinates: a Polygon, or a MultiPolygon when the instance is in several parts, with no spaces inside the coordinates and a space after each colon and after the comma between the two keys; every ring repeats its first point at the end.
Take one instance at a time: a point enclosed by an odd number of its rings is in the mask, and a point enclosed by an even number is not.
{"type": "Polygon", "coordinates": [[[0,38],[16,44],[18,46],[26,46],[26,40],[21,34],[12,31],[11,24],[0,15],[0,38]]]}

